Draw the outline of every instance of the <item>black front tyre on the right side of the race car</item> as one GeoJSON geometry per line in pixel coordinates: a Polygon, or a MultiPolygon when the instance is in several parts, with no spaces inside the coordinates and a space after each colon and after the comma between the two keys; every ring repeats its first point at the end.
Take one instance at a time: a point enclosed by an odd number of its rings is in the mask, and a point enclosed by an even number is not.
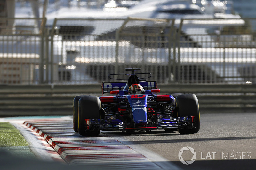
{"type": "Polygon", "coordinates": [[[193,134],[197,133],[200,129],[200,113],[198,99],[195,94],[183,94],[178,95],[175,99],[175,105],[177,107],[177,115],[181,116],[195,116],[194,124],[196,128],[193,129],[178,129],[180,134],[193,134]]]}

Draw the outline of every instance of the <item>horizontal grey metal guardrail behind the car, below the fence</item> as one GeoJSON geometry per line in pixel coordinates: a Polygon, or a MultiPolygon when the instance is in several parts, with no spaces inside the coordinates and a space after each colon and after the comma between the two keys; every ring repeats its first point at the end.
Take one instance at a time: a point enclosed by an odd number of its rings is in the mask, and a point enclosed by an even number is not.
{"type": "MultiPolygon", "coordinates": [[[[200,113],[256,112],[256,85],[158,84],[161,94],[194,93],[200,113]]],[[[101,95],[101,84],[0,85],[0,116],[72,115],[76,95],[101,95]]]]}

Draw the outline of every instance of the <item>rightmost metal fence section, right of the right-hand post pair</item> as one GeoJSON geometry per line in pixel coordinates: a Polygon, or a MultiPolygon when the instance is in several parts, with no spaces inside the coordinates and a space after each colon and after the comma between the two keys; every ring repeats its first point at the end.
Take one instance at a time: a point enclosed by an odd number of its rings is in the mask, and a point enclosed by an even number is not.
{"type": "Polygon", "coordinates": [[[255,19],[184,19],[177,41],[178,78],[190,83],[255,83],[255,19]],[[187,64],[185,64],[187,63],[187,64]]]}

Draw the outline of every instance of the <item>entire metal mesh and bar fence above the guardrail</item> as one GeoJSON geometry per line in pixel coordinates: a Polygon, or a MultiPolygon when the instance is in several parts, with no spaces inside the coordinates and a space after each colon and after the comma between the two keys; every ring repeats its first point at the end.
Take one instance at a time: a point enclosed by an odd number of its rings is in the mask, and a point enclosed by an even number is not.
{"type": "Polygon", "coordinates": [[[256,81],[256,19],[0,22],[0,84],[99,83],[128,67],[161,83],[256,81]]]}

